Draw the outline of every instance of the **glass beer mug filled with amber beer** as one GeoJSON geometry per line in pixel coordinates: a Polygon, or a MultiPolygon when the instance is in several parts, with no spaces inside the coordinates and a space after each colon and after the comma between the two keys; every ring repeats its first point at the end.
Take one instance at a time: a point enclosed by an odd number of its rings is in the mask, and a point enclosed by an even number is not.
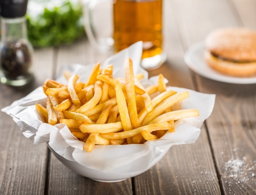
{"type": "Polygon", "coordinates": [[[166,61],[163,49],[162,10],[162,0],[86,0],[85,31],[92,46],[101,51],[118,52],[137,41],[142,41],[140,65],[146,70],[152,70],[166,61]],[[97,39],[92,15],[93,8],[104,2],[112,4],[113,32],[112,36],[103,40],[97,39]]]}

